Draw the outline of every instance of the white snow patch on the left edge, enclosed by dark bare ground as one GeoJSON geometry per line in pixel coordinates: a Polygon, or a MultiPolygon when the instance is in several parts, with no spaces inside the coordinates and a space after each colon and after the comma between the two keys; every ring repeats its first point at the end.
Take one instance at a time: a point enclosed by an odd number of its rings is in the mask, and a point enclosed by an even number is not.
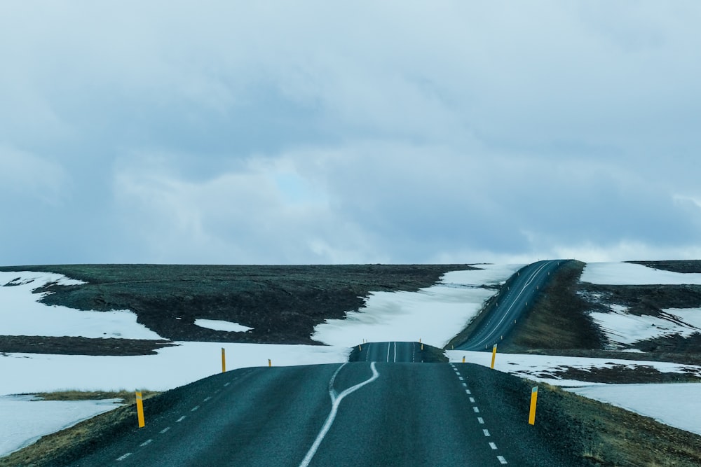
{"type": "Polygon", "coordinates": [[[0,272],[0,321],[3,335],[43,335],[69,337],[118,337],[124,339],[163,339],[137,323],[129,310],[85,312],[62,306],[48,306],[39,300],[48,295],[33,293],[48,284],[85,284],[49,272],[0,272]]]}

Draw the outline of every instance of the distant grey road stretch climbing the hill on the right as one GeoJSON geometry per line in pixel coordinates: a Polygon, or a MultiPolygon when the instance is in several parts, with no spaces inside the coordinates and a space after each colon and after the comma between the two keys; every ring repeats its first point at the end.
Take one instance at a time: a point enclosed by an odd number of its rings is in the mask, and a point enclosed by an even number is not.
{"type": "Polygon", "coordinates": [[[545,260],[522,267],[497,295],[497,305],[477,323],[468,340],[456,350],[490,350],[508,335],[516,322],[538,297],[558,268],[568,260],[545,260]]]}

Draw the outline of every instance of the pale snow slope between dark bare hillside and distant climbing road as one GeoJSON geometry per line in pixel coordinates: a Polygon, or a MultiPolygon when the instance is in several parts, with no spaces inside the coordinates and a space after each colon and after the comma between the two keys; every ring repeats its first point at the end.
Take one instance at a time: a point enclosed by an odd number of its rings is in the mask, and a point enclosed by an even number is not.
{"type": "Polygon", "coordinates": [[[350,347],[367,342],[418,341],[435,347],[463,330],[496,293],[494,288],[522,265],[477,265],[484,269],[444,274],[439,284],[418,292],[374,292],[345,319],[327,319],[314,328],[313,340],[350,347]]]}

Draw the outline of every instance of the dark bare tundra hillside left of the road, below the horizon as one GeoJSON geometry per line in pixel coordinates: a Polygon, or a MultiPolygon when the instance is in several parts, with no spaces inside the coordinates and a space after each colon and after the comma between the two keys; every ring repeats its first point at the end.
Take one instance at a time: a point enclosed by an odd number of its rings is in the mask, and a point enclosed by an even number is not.
{"type": "MultiPolygon", "coordinates": [[[[56,272],[87,284],[49,285],[42,302],[75,309],[130,309],[137,321],[168,340],[319,344],[314,326],[362,307],[373,291],[416,291],[449,271],[470,265],[41,265],[0,271],[56,272]],[[221,319],[253,328],[245,333],[195,326],[196,319],[221,319]]],[[[6,284],[0,284],[3,286],[6,284]]],[[[58,340],[2,336],[0,352],[120,355],[154,350],[154,341],[58,340]],[[106,342],[107,341],[107,342],[106,342]],[[63,343],[63,344],[62,344],[63,343]]]]}

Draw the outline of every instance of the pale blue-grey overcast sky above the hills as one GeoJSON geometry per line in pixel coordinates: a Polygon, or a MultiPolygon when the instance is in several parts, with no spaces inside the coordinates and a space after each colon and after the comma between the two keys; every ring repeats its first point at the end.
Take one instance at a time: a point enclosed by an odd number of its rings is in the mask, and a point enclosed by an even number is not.
{"type": "Polygon", "coordinates": [[[3,1],[0,264],[701,258],[699,1],[3,1]]]}

